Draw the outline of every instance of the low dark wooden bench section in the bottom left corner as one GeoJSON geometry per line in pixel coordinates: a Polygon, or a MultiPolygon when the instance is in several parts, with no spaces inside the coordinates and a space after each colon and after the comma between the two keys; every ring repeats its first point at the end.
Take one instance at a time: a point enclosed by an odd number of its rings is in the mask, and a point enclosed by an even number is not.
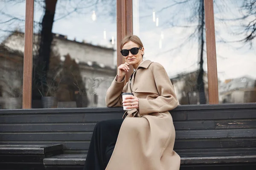
{"type": "Polygon", "coordinates": [[[62,144],[0,145],[1,170],[44,170],[44,158],[62,153],[62,144]]]}

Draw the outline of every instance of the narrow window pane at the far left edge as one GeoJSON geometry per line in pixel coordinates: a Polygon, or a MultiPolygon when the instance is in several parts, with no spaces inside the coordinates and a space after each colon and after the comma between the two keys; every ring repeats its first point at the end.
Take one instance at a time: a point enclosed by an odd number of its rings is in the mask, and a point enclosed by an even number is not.
{"type": "Polygon", "coordinates": [[[2,0],[0,6],[0,109],[20,109],[26,5],[2,0]]]}

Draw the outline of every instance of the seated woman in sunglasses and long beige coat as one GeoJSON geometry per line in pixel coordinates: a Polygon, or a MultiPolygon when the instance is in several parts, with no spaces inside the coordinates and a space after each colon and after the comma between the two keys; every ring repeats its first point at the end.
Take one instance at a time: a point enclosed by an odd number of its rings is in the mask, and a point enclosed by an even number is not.
{"type": "Polygon", "coordinates": [[[106,94],[108,107],[131,108],[123,118],[99,122],[94,131],[84,170],[179,170],[180,157],[173,150],[175,128],[170,110],[177,107],[172,83],[157,62],[143,61],[140,38],[121,42],[125,63],[106,94]],[[125,75],[135,69],[125,85],[125,75]],[[122,93],[133,93],[122,101],[122,93]]]}

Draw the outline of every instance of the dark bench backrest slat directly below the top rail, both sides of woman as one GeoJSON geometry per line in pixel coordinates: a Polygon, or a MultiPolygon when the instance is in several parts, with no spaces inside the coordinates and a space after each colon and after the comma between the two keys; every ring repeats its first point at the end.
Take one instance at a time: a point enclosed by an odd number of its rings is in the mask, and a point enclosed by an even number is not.
{"type": "MultiPolygon", "coordinates": [[[[54,123],[54,122],[99,122],[108,119],[120,119],[123,112],[117,113],[46,113],[46,114],[4,114],[0,123],[54,123]]],[[[217,120],[217,119],[256,119],[252,109],[234,109],[231,111],[176,111],[172,113],[176,120],[217,120]]]]}

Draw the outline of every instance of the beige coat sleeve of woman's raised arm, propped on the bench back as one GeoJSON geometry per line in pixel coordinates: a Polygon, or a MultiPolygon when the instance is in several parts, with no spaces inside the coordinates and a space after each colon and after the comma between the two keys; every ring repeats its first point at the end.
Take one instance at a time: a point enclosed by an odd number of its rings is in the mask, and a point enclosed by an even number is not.
{"type": "Polygon", "coordinates": [[[125,78],[122,80],[122,82],[117,82],[115,77],[106,94],[105,101],[107,107],[122,107],[122,92],[126,92],[128,82],[126,83],[125,87],[124,84],[125,78]]]}

